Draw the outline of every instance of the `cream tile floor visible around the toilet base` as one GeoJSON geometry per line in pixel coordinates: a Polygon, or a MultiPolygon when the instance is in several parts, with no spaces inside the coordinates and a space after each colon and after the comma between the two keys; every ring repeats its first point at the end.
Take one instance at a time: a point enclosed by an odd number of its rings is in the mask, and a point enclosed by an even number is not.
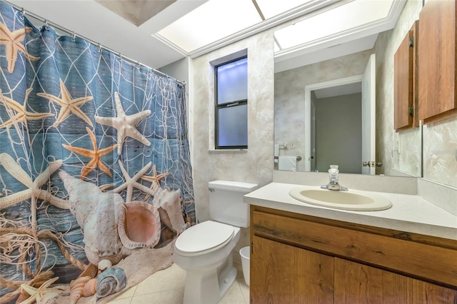
{"type": "MultiPolygon", "coordinates": [[[[219,304],[248,304],[249,286],[243,278],[241,264],[234,263],[238,275],[219,304]]],[[[176,264],[158,271],[138,285],[126,290],[112,304],[181,304],[184,298],[186,271],[176,264]]],[[[201,304],[201,303],[195,303],[201,304]]]]}

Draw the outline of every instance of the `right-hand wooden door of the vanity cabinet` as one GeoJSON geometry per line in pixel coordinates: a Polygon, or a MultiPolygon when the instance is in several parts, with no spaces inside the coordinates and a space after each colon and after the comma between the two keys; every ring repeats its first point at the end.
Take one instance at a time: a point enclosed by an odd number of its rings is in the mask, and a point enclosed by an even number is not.
{"type": "Polygon", "coordinates": [[[457,303],[457,290],[335,258],[335,303],[457,303]]]}

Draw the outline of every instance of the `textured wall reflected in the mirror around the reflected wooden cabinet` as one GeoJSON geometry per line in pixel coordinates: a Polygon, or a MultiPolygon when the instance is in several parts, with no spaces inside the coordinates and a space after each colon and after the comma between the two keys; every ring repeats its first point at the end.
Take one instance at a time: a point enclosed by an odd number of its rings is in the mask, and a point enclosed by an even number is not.
{"type": "Polygon", "coordinates": [[[376,161],[383,162],[383,169],[376,173],[396,175],[401,171],[411,176],[421,176],[420,128],[396,132],[393,129],[393,56],[418,19],[421,0],[406,3],[394,29],[379,34],[376,52],[376,161]],[[395,170],[395,171],[393,171],[395,170]]]}

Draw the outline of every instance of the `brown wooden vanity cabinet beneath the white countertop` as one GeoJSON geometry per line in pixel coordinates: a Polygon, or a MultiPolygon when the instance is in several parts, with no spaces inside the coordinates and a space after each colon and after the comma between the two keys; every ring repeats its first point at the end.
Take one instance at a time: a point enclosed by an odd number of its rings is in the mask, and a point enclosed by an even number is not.
{"type": "Polygon", "coordinates": [[[251,303],[457,303],[457,241],[251,205],[251,303]]]}

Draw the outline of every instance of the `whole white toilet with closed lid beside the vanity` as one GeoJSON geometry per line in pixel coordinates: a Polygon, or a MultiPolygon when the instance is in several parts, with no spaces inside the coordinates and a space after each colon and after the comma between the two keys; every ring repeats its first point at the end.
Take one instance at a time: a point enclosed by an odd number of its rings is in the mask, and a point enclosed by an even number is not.
{"type": "Polygon", "coordinates": [[[211,181],[208,186],[214,221],[184,230],[174,247],[174,262],[187,271],[184,304],[218,303],[236,279],[231,252],[240,238],[239,227],[249,227],[243,196],[257,188],[236,181],[211,181]]]}

